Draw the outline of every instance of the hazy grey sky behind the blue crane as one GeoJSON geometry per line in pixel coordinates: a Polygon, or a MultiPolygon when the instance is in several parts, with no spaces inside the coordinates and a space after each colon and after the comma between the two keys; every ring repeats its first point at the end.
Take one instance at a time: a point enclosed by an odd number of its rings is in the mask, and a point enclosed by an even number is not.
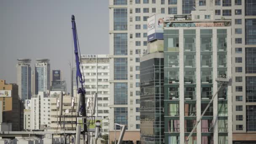
{"type": "Polygon", "coordinates": [[[82,54],[109,53],[108,0],[0,0],[0,79],[16,83],[17,59],[50,59],[70,91],[71,15],[82,54]]]}

